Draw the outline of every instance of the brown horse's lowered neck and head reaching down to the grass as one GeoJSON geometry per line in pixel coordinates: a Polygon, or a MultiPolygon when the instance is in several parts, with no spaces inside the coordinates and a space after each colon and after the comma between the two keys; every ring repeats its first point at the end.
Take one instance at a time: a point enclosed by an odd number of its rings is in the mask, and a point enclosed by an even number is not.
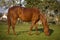
{"type": "Polygon", "coordinates": [[[40,13],[40,20],[42,21],[45,34],[46,34],[46,35],[49,35],[48,22],[47,22],[46,16],[45,16],[44,14],[42,14],[42,13],[40,13]]]}

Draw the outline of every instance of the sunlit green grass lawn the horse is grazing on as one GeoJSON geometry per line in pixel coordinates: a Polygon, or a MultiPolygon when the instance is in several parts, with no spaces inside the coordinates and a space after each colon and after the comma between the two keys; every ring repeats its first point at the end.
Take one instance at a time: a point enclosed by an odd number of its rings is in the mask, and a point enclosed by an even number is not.
{"type": "Polygon", "coordinates": [[[0,22],[0,40],[60,40],[60,25],[50,24],[51,35],[46,36],[43,32],[43,27],[38,25],[39,35],[32,31],[32,35],[29,35],[30,24],[17,24],[15,27],[17,35],[13,34],[12,27],[10,28],[10,34],[7,35],[7,24],[0,22]]]}

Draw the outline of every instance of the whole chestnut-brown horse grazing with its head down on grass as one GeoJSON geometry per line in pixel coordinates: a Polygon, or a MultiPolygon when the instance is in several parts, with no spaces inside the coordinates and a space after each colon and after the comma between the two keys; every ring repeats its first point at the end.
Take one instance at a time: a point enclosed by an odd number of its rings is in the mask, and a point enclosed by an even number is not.
{"type": "Polygon", "coordinates": [[[42,14],[37,8],[24,8],[20,6],[13,6],[9,8],[8,10],[8,15],[7,15],[8,34],[10,32],[10,26],[12,26],[13,33],[16,34],[15,24],[18,18],[20,18],[22,21],[25,21],[25,22],[32,22],[29,33],[31,33],[34,25],[35,25],[36,33],[37,33],[37,30],[38,30],[37,22],[41,20],[44,26],[44,33],[46,35],[49,35],[49,27],[48,27],[47,20],[44,14],[42,14]]]}

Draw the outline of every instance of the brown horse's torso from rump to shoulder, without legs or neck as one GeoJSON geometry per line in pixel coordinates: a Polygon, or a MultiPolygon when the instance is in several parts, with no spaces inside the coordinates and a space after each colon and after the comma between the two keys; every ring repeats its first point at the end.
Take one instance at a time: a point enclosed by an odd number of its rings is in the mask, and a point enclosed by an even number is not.
{"type": "Polygon", "coordinates": [[[39,16],[40,11],[37,8],[25,8],[20,6],[13,6],[9,8],[8,14],[10,17],[19,17],[25,21],[31,21],[39,16]]]}

